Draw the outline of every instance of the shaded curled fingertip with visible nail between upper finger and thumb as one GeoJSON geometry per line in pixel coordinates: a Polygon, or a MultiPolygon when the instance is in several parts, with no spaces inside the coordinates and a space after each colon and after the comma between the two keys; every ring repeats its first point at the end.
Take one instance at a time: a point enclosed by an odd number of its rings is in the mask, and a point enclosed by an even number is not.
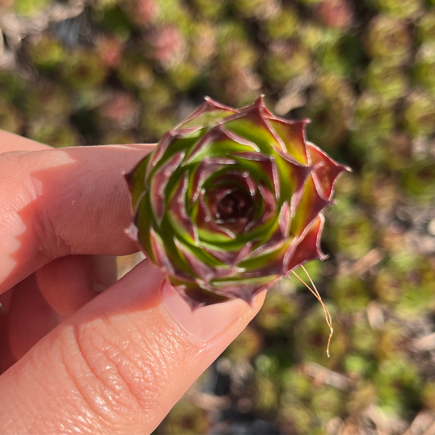
{"type": "Polygon", "coordinates": [[[116,257],[68,255],[51,261],[36,277],[51,308],[68,318],[116,282],[116,257]]]}

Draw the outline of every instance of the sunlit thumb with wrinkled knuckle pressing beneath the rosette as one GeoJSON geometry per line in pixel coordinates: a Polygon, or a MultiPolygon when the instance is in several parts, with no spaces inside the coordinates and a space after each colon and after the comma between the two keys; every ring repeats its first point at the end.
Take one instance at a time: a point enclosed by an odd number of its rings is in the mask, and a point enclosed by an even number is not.
{"type": "Polygon", "coordinates": [[[192,313],[142,261],[0,377],[0,433],[150,434],[263,299],[192,313]]]}

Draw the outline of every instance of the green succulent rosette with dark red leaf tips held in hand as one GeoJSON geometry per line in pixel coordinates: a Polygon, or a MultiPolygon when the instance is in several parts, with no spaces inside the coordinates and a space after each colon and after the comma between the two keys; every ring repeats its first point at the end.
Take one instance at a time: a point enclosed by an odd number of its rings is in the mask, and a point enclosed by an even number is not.
{"type": "Polygon", "coordinates": [[[308,120],[206,98],[127,174],[129,234],[192,308],[251,301],[325,259],[322,211],[347,167],[306,139],[308,120]]]}

